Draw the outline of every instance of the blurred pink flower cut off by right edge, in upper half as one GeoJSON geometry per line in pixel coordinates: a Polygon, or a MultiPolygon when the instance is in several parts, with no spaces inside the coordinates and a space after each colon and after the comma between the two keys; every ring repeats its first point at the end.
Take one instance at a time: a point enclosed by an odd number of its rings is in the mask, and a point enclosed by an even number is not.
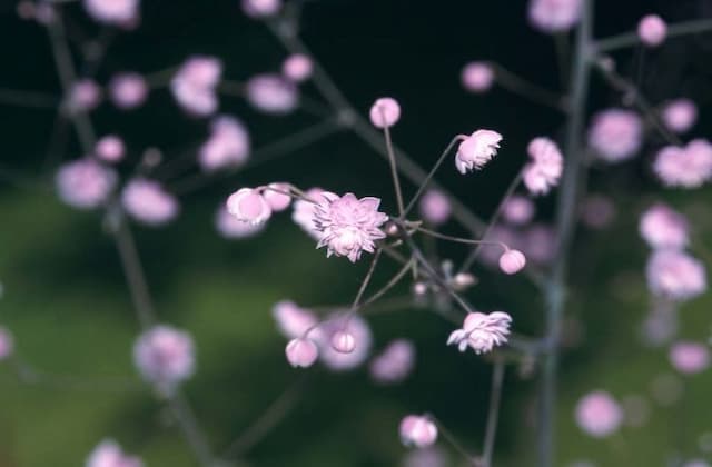
{"type": "Polygon", "coordinates": [[[668,187],[701,187],[712,178],[712,145],[695,139],[684,148],[666,146],[657,152],[653,170],[668,187]]]}

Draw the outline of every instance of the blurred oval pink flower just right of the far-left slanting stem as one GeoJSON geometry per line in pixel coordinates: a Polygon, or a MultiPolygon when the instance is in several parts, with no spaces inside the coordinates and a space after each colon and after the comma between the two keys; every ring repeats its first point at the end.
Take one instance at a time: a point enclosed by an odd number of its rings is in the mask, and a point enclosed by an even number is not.
{"type": "Polygon", "coordinates": [[[135,178],[121,192],[121,205],[134,219],[148,226],[162,226],[178,216],[178,200],[157,181],[135,178]]]}

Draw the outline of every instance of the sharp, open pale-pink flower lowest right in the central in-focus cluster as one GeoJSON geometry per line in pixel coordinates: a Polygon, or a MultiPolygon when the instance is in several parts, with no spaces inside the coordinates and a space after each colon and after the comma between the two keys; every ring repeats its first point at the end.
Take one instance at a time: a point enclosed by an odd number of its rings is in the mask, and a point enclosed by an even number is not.
{"type": "Polygon", "coordinates": [[[503,311],[467,314],[463,328],[449,335],[447,345],[457,344],[459,351],[469,346],[477,355],[487,354],[495,346],[506,344],[511,322],[512,317],[503,311]]]}

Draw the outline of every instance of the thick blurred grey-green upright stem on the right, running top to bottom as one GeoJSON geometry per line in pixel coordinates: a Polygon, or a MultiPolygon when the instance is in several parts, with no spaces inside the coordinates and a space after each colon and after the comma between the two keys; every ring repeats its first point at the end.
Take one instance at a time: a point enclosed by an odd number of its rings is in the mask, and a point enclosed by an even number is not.
{"type": "Polygon", "coordinates": [[[542,361],[542,381],[538,416],[538,465],[553,467],[555,459],[556,382],[558,367],[558,341],[564,314],[568,251],[576,221],[576,201],[582,185],[581,136],[586,110],[590,79],[591,38],[593,26],[593,0],[584,0],[581,23],[576,31],[571,73],[571,113],[565,133],[565,167],[558,191],[556,211],[557,251],[548,284],[545,287],[547,302],[546,342],[547,352],[542,361]]]}

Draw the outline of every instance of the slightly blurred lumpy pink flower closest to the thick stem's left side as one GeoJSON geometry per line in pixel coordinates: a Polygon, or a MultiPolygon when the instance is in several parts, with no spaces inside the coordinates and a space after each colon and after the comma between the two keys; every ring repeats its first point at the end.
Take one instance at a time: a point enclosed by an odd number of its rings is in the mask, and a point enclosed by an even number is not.
{"type": "Polygon", "coordinates": [[[558,185],[564,158],[556,143],[543,137],[534,138],[527,152],[532,161],[524,167],[524,185],[533,195],[545,195],[558,185]]]}

